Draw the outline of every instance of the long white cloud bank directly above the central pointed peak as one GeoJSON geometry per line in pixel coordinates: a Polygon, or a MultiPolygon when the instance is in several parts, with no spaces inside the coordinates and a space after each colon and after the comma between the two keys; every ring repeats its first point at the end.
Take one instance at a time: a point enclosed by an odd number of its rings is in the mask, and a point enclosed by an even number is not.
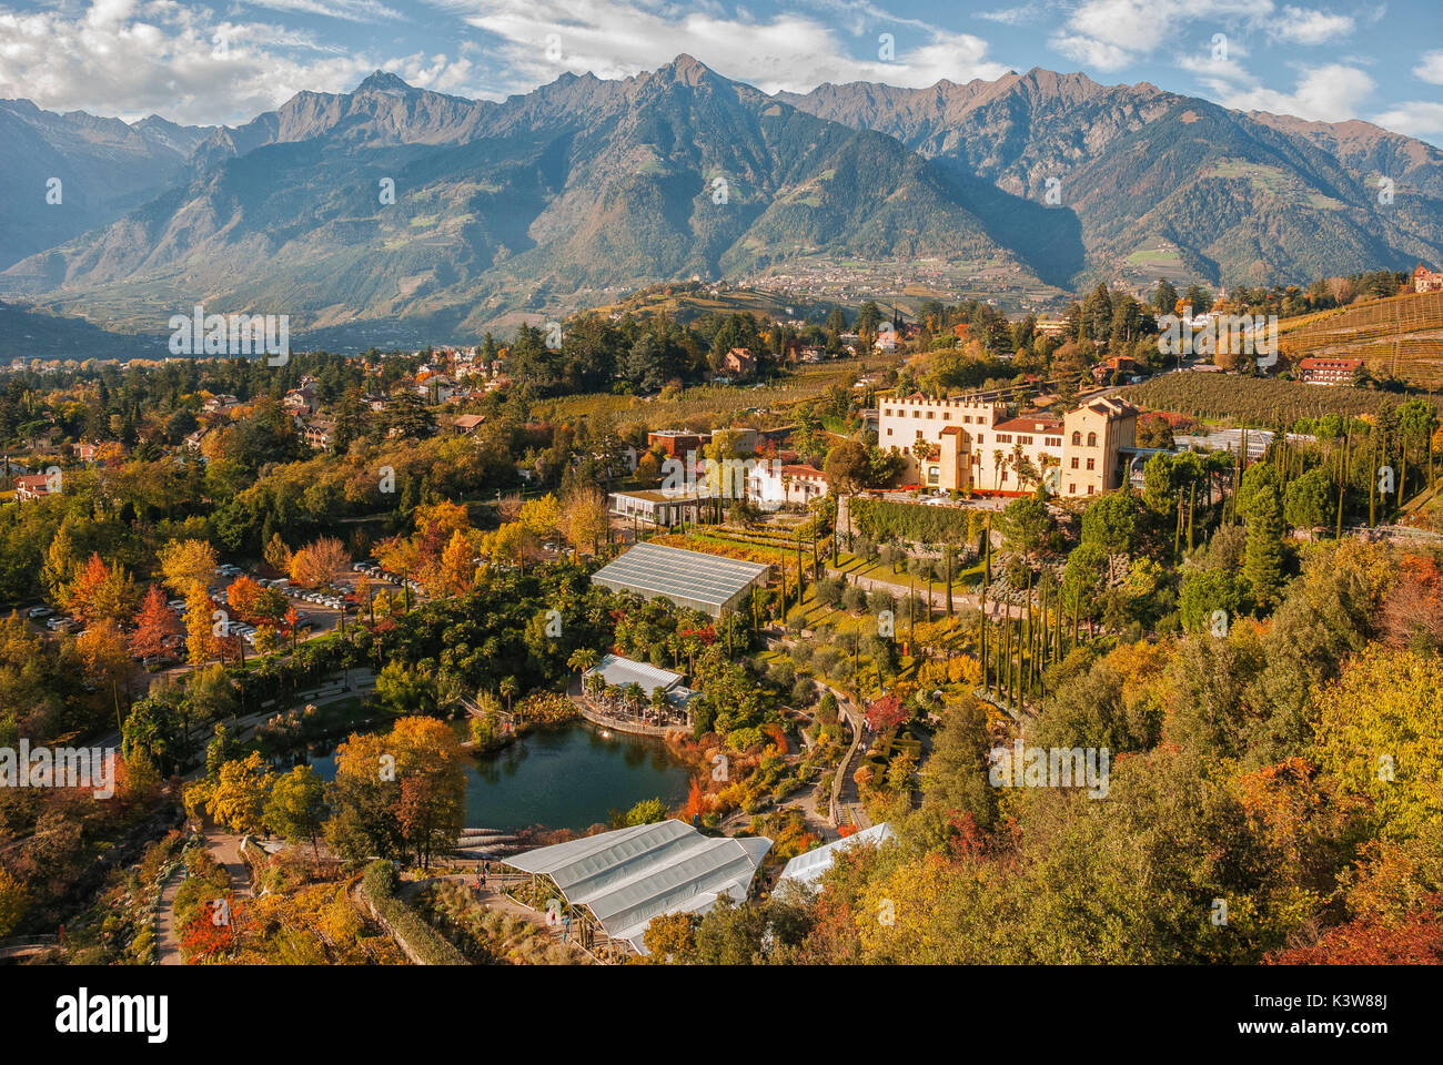
{"type": "MultiPolygon", "coordinates": [[[[867,7],[867,49],[853,58],[834,23],[802,14],[750,19],[713,10],[625,0],[437,0],[476,29],[501,39],[498,59],[517,91],[554,79],[563,71],[625,78],[662,66],[685,52],[719,74],[766,92],[807,91],[821,82],[882,81],[924,87],[942,78],[1000,78],[1007,66],[987,58],[987,42],[934,27],[908,30],[912,20],[867,7]],[[895,36],[895,59],[879,56],[877,35],[895,36]],[[560,58],[547,55],[556,35],[560,58]]],[[[828,4],[853,12],[859,6],[828,4]]],[[[554,53],[554,52],[553,52],[554,53]]]]}

